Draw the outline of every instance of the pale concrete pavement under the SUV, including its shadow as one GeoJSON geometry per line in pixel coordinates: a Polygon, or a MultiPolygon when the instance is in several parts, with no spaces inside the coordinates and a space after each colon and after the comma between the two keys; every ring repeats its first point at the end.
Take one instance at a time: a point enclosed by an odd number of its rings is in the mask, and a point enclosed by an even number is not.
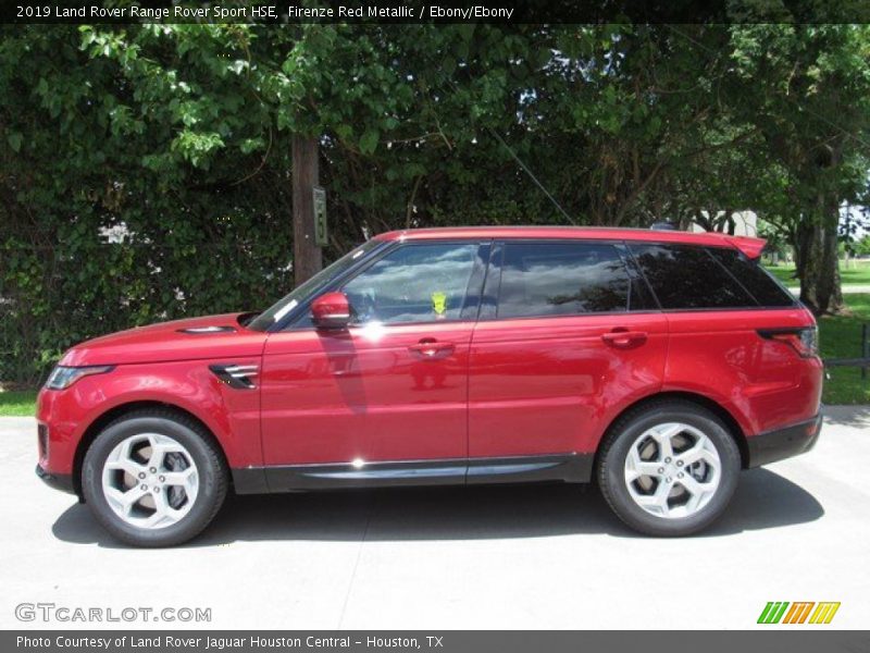
{"type": "Polygon", "coordinates": [[[490,486],[235,498],[162,551],[44,488],[33,420],[5,418],[0,628],[53,602],[210,607],[216,628],[738,629],[768,601],[841,601],[831,627],[866,628],[870,407],[828,412],[817,448],[744,472],[704,537],[635,537],[594,490],[490,486]]]}

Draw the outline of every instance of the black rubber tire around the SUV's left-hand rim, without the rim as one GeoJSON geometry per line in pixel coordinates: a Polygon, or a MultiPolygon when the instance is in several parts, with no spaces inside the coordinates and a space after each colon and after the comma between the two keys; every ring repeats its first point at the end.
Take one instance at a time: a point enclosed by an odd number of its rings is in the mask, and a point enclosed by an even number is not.
{"type": "Polygon", "coordinates": [[[82,466],[82,491],[94,517],[113,537],[134,546],[174,546],[198,535],[214,519],[226,497],[228,473],[211,434],[192,419],[165,409],[129,412],[105,427],[90,444],[82,466]],[[176,523],[141,528],[124,521],[109,506],[102,489],[102,470],[112,449],[139,433],[167,435],[182,444],[197,466],[196,501],[176,523]]]}

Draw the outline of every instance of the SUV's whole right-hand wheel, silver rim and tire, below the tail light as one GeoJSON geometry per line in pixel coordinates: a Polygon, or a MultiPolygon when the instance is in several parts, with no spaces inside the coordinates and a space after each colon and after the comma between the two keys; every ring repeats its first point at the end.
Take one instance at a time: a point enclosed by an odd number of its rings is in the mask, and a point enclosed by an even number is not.
{"type": "Polygon", "coordinates": [[[739,449],[716,415],[688,402],[657,402],[613,426],[597,476],[608,504],[630,527],[687,535],[724,512],[739,469],[739,449]]]}

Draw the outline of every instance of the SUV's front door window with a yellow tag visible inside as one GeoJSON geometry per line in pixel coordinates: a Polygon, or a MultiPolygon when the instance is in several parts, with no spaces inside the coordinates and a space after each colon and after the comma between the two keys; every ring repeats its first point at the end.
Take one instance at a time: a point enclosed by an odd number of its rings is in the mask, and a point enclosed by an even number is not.
{"type": "Polygon", "coordinates": [[[349,281],[344,293],[357,323],[457,320],[478,245],[405,245],[349,281]]]}

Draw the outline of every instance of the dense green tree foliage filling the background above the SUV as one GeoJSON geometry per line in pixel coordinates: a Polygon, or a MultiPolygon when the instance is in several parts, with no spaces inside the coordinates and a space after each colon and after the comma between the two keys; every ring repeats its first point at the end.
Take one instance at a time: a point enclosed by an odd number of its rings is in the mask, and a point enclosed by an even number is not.
{"type": "Polygon", "coordinates": [[[326,260],[390,229],[728,230],[751,209],[804,244],[807,299],[836,308],[832,207],[867,185],[863,26],[0,35],[4,380],[91,335],[289,289],[294,136],[318,139],[326,260]]]}

